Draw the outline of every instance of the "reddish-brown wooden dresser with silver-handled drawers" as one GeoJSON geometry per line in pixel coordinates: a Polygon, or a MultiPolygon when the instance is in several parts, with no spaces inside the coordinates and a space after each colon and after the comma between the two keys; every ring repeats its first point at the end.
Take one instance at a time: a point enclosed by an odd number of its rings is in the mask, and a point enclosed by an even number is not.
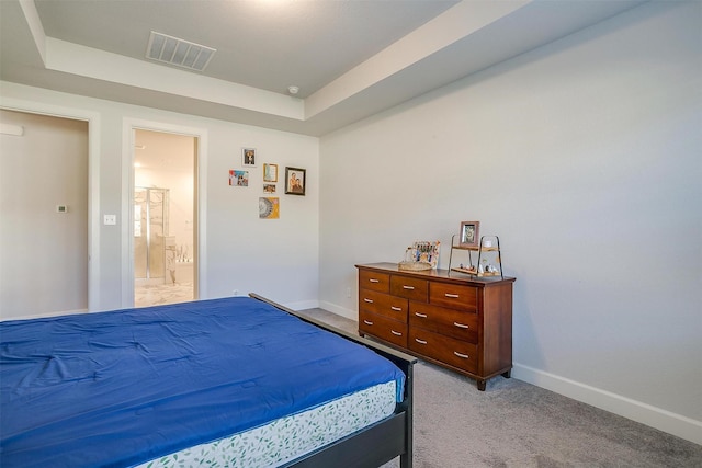
{"type": "Polygon", "coordinates": [[[448,270],[411,272],[396,263],[359,269],[359,333],[477,380],[510,377],[511,277],[448,270]]]}

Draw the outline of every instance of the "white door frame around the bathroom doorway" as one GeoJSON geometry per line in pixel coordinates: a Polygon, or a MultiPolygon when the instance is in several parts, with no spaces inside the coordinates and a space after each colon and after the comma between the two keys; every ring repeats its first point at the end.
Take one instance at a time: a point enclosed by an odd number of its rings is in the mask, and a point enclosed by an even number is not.
{"type": "Polygon", "coordinates": [[[195,173],[193,174],[193,195],[195,197],[193,221],[196,226],[193,229],[193,248],[195,249],[193,265],[193,298],[202,299],[207,297],[206,290],[206,155],[207,155],[207,129],[199,127],[188,127],[173,125],[163,122],[144,121],[137,118],[124,118],[122,136],[122,219],[127,222],[122,224],[122,306],[124,308],[134,307],[134,158],[135,141],[134,135],[137,129],[160,132],[165,134],[177,134],[194,137],[195,146],[195,173]]]}

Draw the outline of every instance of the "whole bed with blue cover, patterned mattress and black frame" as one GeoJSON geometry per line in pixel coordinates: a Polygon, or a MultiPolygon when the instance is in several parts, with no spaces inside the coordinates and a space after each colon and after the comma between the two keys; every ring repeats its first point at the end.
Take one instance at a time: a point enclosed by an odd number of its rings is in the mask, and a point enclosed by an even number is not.
{"type": "Polygon", "coordinates": [[[416,359],[254,294],[0,343],[2,467],[411,467],[416,359]]]}

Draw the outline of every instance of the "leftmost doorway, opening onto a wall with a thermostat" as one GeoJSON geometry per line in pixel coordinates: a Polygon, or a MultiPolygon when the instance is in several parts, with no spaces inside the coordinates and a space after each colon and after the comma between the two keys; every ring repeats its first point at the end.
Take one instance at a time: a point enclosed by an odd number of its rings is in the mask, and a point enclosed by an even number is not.
{"type": "Polygon", "coordinates": [[[88,122],[0,110],[0,318],[89,307],[88,122]]]}

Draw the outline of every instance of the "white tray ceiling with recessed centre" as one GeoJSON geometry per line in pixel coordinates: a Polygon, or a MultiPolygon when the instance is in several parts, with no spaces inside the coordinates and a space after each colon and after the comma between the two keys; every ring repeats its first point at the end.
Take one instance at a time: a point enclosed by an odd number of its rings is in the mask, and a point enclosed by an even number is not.
{"type": "Polygon", "coordinates": [[[0,78],[319,136],[642,2],[0,0],[0,78]],[[151,31],[217,52],[161,65],[151,31]]]}

